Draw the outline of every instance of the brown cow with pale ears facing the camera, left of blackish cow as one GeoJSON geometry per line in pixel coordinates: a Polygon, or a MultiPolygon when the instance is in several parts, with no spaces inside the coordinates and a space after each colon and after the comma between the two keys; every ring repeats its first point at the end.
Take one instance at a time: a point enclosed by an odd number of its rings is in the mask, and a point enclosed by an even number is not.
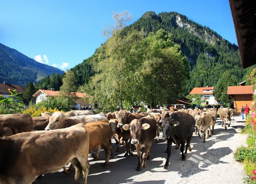
{"type": "Polygon", "coordinates": [[[124,130],[130,130],[131,143],[135,145],[137,150],[139,160],[136,170],[141,170],[142,167],[146,168],[146,159],[149,158],[150,147],[156,137],[156,120],[150,116],[140,118],[140,120],[134,119],[130,124],[125,124],[123,128],[124,130]],[[142,148],[144,148],[144,153],[141,164],[142,148]]]}

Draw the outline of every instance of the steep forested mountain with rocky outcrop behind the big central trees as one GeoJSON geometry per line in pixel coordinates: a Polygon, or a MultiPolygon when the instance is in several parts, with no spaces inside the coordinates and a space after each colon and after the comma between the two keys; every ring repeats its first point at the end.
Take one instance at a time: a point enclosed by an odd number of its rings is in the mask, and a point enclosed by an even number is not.
{"type": "MultiPolygon", "coordinates": [[[[211,30],[202,26],[186,16],[177,12],[146,12],[136,22],[125,29],[135,28],[143,30],[145,36],[150,32],[156,33],[163,29],[172,34],[174,43],[180,44],[182,53],[190,61],[190,78],[186,85],[188,94],[194,87],[215,86],[222,74],[226,71],[232,75],[232,85],[238,85],[244,80],[246,73],[251,70],[242,69],[238,46],[231,44],[211,30]]],[[[104,55],[104,44],[96,52],[81,64],[71,68],[82,85],[88,82],[94,75],[93,62],[98,62],[104,55]]]]}

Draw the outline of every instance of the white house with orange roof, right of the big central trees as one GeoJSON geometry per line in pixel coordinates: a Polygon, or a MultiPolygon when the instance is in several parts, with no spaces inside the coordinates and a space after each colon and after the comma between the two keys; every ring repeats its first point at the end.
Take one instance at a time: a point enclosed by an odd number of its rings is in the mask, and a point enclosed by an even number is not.
{"type": "Polygon", "coordinates": [[[193,88],[189,94],[202,94],[202,98],[208,102],[209,105],[217,104],[214,96],[213,96],[214,87],[201,87],[201,88],[193,88]]]}

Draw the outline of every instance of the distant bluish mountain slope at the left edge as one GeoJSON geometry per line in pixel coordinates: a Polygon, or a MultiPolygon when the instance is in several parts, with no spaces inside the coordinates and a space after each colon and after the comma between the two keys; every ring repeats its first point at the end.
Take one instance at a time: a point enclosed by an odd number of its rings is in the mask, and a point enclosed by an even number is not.
{"type": "Polygon", "coordinates": [[[0,82],[26,86],[28,82],[38,82],[53,73],[64,71],[36,62],[13,48],[0,44],[0,82]]]}

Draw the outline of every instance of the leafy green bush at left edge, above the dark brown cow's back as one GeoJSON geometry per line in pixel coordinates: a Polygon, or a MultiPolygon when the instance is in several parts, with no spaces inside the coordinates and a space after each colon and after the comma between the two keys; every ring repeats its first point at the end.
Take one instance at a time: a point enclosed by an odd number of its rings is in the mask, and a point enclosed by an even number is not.
{"type": "Polygon", "coordinates": [[[20,97],[21,93],[17,93],[16,90],[8,89],[11,95],[9,98],[0,98],[0,112],[2,114],[19,114],[24,110],[24,104],[22,98],[20,97]]]}

